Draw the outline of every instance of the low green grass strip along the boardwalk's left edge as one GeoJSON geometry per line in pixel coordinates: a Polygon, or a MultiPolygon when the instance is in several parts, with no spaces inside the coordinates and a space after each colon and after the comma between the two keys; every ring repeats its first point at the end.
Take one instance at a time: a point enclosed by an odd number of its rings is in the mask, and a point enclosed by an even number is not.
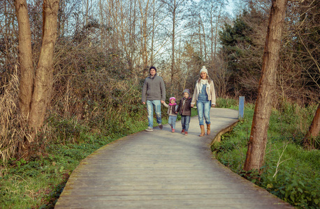
{"type": "Polygon", "coordinates": [[[0,179],[0,208],[53,208],[79,162],[119,137],[87,135],[81,144],[50,144],[29,162],[10,162],[0,179]]]}

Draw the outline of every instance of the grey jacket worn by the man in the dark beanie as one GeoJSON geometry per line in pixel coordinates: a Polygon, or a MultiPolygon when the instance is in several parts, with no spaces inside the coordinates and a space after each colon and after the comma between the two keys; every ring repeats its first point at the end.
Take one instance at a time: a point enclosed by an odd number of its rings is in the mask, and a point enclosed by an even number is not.
{"type": "Polygon", "coordinates": [[[157,76],[157,74],[154,77],[149,75],[145,79],[141,100],[142,102],[146,102],[147,100],[166,100],[166,87],[164,86],[163,79],[157,76]]]}

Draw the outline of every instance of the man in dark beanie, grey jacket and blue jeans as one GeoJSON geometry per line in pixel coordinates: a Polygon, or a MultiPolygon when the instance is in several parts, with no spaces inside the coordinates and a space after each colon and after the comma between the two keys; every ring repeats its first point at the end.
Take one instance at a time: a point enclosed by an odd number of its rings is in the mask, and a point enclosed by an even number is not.
{"type": "Polygon", "coordinates": [[[164,86],[163,79],[157,76],[157,68],[154,66],[149,69],[150,75],[145,79],[143,84],[143,104],[147,103],[148,112],[148,128],[146,131],[153,131],[153,109],[156,111],[157,123],[160,129],[162,129],[161,124],[161,103],[166,100],[166,88],[164,86]]]}

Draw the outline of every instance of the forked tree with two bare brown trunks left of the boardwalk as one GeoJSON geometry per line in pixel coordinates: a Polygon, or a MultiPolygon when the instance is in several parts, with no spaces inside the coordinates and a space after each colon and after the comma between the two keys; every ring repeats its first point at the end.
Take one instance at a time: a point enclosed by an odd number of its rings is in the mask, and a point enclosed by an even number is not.
{"type": "MultiPolygon", "coordinates": [[[[34,72],[32,64],[27,1],[16,0],[15,10],[19,24],[20,109],[23,116],[27,118],[29,127],[37,130],[43,125],[52,91],[53,52],[57,38],[59,0],[43,1],[43,39],[36,72],[34,72]]],[[[31,141],[34,140],[33,137],[30,139],[31,141]]]]}

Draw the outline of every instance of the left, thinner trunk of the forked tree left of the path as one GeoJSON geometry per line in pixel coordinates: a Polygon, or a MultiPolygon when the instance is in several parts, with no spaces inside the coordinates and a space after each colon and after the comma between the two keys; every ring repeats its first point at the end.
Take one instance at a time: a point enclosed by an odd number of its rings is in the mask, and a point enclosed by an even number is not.
{"type": "Polygon", "coordinates": [[[34,67],[31,49],[31,29],[26,0],[16,0],[15,15],[19,27],[19,63],[20,63],[20,90],[19,106],[22,116],[27,118],[30,111],[30,102],[34,85],[34,67]]]}

